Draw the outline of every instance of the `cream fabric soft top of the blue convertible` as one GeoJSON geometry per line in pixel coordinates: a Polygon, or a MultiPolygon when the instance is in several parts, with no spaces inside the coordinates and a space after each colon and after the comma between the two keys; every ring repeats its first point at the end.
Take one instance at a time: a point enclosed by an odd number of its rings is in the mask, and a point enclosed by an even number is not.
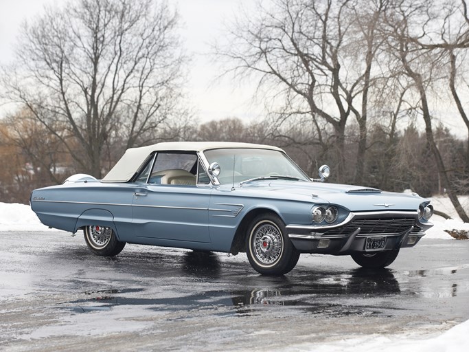
{"type": "Polygon", "coordinates": [[[148,155],[154,151],[198,151],[219,148],[257,148],[282,151],[276,146],[264,144],[234,143],[234,142],[163,142],[140,148],[129,148],[122,155],[117,164],[101,180],[102,182],[127,182],[137,172],[141,164],[145,162],[148,155]]]}

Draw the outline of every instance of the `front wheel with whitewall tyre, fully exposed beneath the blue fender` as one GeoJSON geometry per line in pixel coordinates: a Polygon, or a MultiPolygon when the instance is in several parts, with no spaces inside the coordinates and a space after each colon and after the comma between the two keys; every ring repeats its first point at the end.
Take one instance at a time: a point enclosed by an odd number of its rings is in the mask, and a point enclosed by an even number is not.
{"type": "Polygon", "coordinates": [[[275,214],[262,214],[252,221],[246,236],[246,252],[255,271],[283,275],[297,265],[299,252],[293,246],[285,225],[275,214]]]}

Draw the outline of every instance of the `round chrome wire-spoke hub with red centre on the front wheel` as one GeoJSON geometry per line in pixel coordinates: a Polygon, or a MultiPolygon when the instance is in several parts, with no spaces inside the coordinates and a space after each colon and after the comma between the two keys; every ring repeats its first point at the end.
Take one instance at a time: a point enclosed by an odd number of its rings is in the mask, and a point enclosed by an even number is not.
{"type": "Polygon", "coordinates": [[[282,234],[274,225],[261,225],[258,230],[255,231],[253,247],[255,256],[261,263],[275,263],[282,254],[282,234]]]}

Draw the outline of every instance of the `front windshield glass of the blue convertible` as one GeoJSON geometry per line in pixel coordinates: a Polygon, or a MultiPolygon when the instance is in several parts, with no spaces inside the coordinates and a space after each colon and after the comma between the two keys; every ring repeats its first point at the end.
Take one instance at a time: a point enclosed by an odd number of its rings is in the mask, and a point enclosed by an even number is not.
{"type": "Polygon", "coordinates": [[[220,165],[220,184],[253,179],[310,181],[306,174],[281,151],[255,148],[226,148],[205,151],[209,164],[220,165]],[[233,170],[234,167],[234,170],[233,170]]]}

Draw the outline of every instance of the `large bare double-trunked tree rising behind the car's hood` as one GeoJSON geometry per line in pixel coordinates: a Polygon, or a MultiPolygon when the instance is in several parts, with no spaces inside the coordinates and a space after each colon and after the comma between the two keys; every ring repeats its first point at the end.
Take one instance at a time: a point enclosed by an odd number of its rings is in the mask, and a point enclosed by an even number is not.
{"type": "Polygon", "coordinates": [[[353,177],[345,171],[344,150],[351,116],[360,132],[354,179],[363,179],[372,65],[382,43],[376,28],[386,4],[276,0],[271,8],[260,5],[258,17],[239,20],[229,47],[218,48],[220,56],[234,63],[235,74],[257,75],[258,91],[268,91],[273,101],[277,126],[308,121],[302,128],[313,131],[311,142],[321,146],[323,154],[334,150],[331,161],[338,181],[353,177]]]}

